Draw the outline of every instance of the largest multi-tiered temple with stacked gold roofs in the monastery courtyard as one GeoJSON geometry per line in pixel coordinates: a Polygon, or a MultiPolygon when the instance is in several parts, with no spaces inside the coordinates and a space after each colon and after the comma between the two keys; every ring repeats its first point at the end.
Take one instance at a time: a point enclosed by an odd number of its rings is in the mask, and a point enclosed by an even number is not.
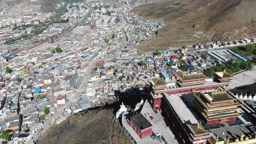
{"type": "Polygon", "coordinates": [[[240,116],[236,110],[241,104],[225,89],[194,96],[195,107],[207,125],[236,121],[240,116]]]}

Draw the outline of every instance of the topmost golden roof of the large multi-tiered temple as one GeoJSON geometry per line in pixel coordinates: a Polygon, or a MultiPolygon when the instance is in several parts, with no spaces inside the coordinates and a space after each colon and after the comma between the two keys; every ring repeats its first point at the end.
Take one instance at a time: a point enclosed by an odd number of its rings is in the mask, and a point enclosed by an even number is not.
{"type": "Polygon", "coordinates": [[[213,91],[210,93],[204,93],[202,96],[209,102],[222,102],[228,100],[235,100],[230,97],[226,90],[224,91],[213,91]]]}

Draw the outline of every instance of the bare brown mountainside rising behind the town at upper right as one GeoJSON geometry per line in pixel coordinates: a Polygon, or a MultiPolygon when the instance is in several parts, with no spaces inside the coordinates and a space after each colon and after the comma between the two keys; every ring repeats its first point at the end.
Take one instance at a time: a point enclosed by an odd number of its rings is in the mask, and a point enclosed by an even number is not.
{"type": "Polygon", "coordinates": [[[256,36],[256,0],[170,0],[132,11],[167,24],[142,50],[256,36]]]}

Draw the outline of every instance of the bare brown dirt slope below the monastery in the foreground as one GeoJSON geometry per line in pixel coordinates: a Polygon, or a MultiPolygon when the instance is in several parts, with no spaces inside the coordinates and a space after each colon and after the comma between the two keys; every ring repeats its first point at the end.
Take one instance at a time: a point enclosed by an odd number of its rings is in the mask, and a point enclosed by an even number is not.
{"type": "Polygon", "coordinates": [[[115,119],[113,109],[81,112],[53,126],[39,144],[133,144],[115,119]]]}

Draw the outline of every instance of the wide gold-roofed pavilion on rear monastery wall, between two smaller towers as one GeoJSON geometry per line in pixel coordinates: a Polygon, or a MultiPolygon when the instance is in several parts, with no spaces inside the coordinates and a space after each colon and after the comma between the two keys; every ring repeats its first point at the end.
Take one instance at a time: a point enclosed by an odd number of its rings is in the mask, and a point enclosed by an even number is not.
{"type": "Polygon", "coordinates": [[[202,72],[189,74],[183,74],[182,72],[178,72],[177,79],[178,84],[183,87],[204,84],[206,76],[202,72]]]}

